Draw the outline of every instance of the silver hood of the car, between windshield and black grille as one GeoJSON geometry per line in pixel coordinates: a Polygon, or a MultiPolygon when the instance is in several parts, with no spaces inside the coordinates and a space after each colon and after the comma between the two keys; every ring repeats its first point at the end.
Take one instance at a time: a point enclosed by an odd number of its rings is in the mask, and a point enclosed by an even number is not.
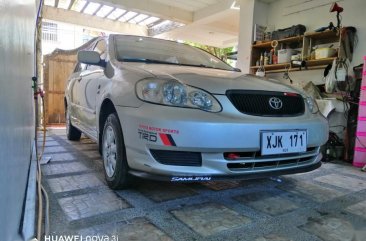
{"type": "Polygon", "coordinates": [[[212,94],[225,94],[227,90],[233,89],[298,92],[277,80],[235,71],[145,63],[133,63],[133,67],[156,77],[177,79],[182,83],[204,89],[212,94]]]}

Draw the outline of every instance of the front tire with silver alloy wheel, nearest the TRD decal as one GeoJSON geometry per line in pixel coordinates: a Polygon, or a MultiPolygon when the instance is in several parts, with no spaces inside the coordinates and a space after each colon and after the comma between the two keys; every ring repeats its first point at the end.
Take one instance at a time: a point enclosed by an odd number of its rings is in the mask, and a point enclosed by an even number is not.
{"type": "Polygon", "coordinates": [[[104,175],[108,186],[111,189],[127,188],[131,183],[131,176],[128,174],[126,148],[116,113],[110,114],[105,121],[102,134],[102,153],[104,175]]]}

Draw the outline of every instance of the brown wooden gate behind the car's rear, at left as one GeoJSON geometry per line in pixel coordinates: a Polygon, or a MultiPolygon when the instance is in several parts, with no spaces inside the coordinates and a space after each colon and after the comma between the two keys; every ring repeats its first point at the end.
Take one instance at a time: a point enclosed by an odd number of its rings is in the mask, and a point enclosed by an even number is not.
{"type": "Polygon", "coordinates": [[[65,124],[65,87],[77,62],[77,52],[90,49],[96,38],[73,50],[56,49],[43,57],[43,81],[45,90],[45,124],[65,124]]]}

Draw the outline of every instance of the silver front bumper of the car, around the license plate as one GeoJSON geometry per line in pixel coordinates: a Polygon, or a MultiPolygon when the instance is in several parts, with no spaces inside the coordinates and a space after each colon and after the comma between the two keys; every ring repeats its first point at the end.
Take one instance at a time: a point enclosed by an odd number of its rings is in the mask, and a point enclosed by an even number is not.
{"type": "MultiPolygon", "coordinates": [[[[223,100],[220,102],[223,103],[223,100]]],[[[122,125],[131,174],[153,179],[247,179],[311,171],[320,166],[318,147],[328,139],[327,121],[320,115],[309,113],[299,117],[257,117],[244,115],[235,109],[209,113],[147,103],[139,108],[116,109],[122,125]],[[307,146],[313,148],[313,151],[235,161],[224,158],[225,152],[260,151],[260,132],[264,130],[306,130],[307,146]],[[199,152],[202,155],[202,165],[164,165],[154,159],[150,152],[152,149],[199,152]],[[228,167],[229,163],[235,162],[279,163],[290,159],[305,161],[258,169],[228,167]]]]}

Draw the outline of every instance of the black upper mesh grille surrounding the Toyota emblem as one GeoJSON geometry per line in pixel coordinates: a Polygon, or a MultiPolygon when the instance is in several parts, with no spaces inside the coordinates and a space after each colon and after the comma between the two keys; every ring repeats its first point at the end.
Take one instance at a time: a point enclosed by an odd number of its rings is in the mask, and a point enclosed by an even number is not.
{"type": "MultiPolygon", "coordinates": [[[[305,111],[305,102],[301,95],[286,92],[258,90],[228,90],[226,96],[241,113],[255,116],[299,116],[305,111]],[[273,108],[270,99],[278,98],[281,108],[273,108]]],[[[272,104],[273,105],[273,104],[272,104]]],[[[279,107],[279,106],[277,106],[279,107]]]]}

